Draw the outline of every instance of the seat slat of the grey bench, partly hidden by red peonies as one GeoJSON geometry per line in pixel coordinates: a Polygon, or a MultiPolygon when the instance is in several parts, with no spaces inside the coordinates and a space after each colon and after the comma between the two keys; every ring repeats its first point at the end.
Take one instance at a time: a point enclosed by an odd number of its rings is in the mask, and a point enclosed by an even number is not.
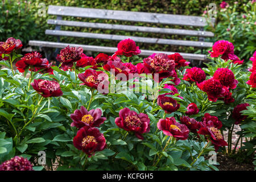
{"type": "MultiPolygon", "coordinates": [[[[117,51],[116,47],[103,47],[103,46],[90,46],[83,44],[69,44],[69,43],[57,43],[57,42],[48,42],[48,41],[40,41],[40,40],[30,40],[28,42],[30,46],[39,46],[39,47],[52,47],[52,48],[64,48],[67,46],[71,47],[82,47],[85,51],[93,51],[93,52],[105,52],[105,53],[114,53],[117,51]]],[[[141,53],[139,55],[142,56],[150,56],[153,53],[166,53],[167,55],[173,54],[174,52],[166,52],[166,51],[152,51],[152,50],[144,50],[141,49],[141,53]]],[[[205,55],[194,54],[194,53],[180,53],[184,59],[189,60],[207,60],[205,55]]]]}

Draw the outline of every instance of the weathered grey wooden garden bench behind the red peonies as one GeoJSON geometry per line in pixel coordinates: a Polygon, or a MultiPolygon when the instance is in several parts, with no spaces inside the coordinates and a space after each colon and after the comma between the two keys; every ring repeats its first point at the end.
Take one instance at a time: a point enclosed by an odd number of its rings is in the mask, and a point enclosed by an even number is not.
{"type": "MultiPolygon", "coordinates": [[[[56,19],[48,19],[48,24],[55,25],[55,30],[46,30],[46,35],[57,36],[57,42],[48,42],[40,40],[30,40],[28,43],[30,46],[39,46],[40,48],[64,48],[68,45],[71,47],[82,47],[86,51],[96,51],[105,53],[114,53],[117,51],[117,47],[105,47],[105,46],[90,46],[82,44],[62,43],[60,42],[60,36],[72,36],[77,38],[89,38],[89,39],[108,39],[108,40],[123,40],[133,39],[135,42],[141,43],[153,43],[153,44],[168,44],[176,46],[192,46],[208,48],[212,47],[213,43],[204,42],[205,37],[213,37],[213,32],[203,31],[203,27],[207,25],[207,20],[201,16],[187,16],[187,15],[172,15],[172,14],[159,14],[159,13],[144,13],[136,11],[117,11],[117,10],[103,10],[103,9],[89,9],[80,7],[68,7],[68,6],[52,6],[48,7],[49,15],[56,15],[56,19]],[[174,28],[158,28],[158,27],[144,27],[144,26],[130,26],[121,24],[107,24],[107,23],[90,23],[90,22],[78,22],[62,20],[63,16],[75,16],[81,18],[93,18],[93,19],[112,19],[123,20],[131,22],[144,22],[144,23],[159,23],[159,24],[173,24],[179,26],[193,26],[200,27],[200,31],[196,30],[183,30],[174,28]],[[111,34],[94,34],[90,32],[76,32],[76,31],[63,31],[61,26],[72,27],[86,27],[86,28],[101,28],[111,30],[125,30],[134,32],[151,32],[158,34],[172,34],[183,36],[196,36],[198,41],[191,40],[172,40],[172,39],[160,39],[160,38],[145,38],[139,36],[125,36],[125,35],[111,35],[111,34]]],[[[214,24],[214,18],[210,21],[214,24]]],[[[143,56],[151,55],[152,53],[167,53],[172,54],[174,52],[166,51],[154,51],[141,49],[143,56]]],[[[195,53],[181,53],[184,59],[188,60],[207,60],[207,56],[203,54],[195,53]]]]}

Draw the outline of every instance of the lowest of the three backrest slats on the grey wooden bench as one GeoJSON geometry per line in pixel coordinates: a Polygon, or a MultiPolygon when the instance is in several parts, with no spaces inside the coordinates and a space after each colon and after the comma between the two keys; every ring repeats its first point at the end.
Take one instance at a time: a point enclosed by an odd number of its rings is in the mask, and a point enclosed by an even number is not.
{"type": "Polygon", "coordinates": [[[123,40],[133,39],[135,42],[153,43],[153,44],[168,44],[176,46],[192,46],[192,47],[212,47],[211,42],[199,42],[190,40],[171,40],[171,39],[158,39],[158,38],[143,38],[139,36],[124,36],[112,34],[94,34],[89,32],[75,32],[75,31],[61,31],[61,30],[46,30],[46,35],[55,36],[72,36],[79,38],[92,38],[92,39],[108,39],[108,40],[123,40]]]}

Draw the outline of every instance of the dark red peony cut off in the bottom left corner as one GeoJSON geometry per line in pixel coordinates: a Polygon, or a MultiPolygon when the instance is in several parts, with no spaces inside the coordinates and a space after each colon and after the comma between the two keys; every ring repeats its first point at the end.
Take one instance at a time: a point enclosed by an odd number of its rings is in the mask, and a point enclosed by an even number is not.
{"type": "Polygon", "coordinates": [[[0,165],[0,171],[34,171],[32,164],[26,158],[15,156],[0,165]]]}

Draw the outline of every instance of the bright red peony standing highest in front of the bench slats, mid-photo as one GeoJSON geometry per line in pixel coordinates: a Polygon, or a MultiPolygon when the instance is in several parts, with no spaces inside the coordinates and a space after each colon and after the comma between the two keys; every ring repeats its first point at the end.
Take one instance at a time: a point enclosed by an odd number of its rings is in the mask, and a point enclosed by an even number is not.
{"type": "Polygon", "coordinates": [[[133,55],[138,55],[141,53],[141,50],[136,43],[131,39],[121,40],[117,45],[117,51],[115,55],[125,55],[127,57],[131,57],[133,55]]]}

